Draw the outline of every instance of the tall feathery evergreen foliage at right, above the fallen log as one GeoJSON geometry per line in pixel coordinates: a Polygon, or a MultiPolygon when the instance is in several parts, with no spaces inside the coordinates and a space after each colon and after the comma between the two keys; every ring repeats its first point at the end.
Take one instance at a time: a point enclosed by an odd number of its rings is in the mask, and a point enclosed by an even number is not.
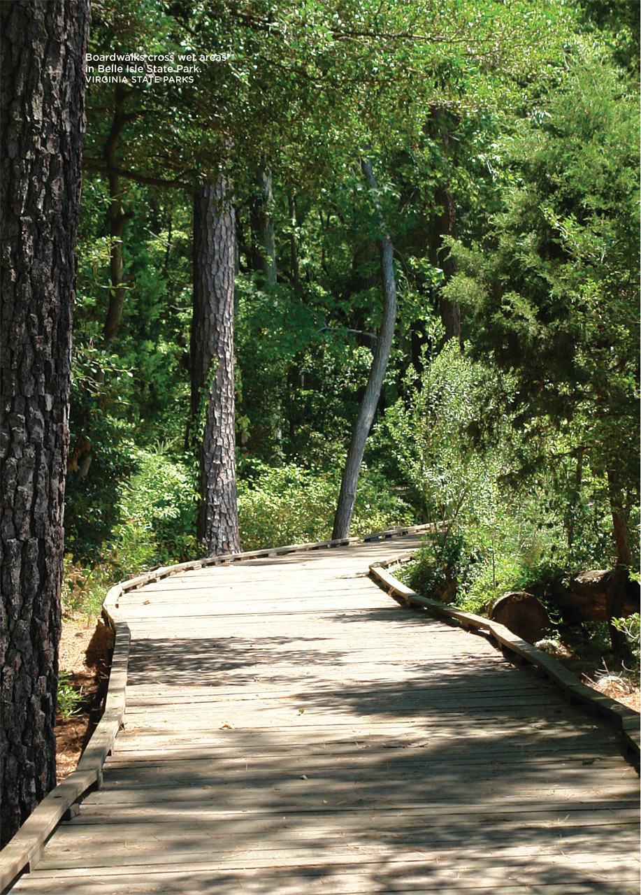
{"type": "Polygon", "coordinates": [[[572,535],[589,513],[583,459],[598,516],[619,507],[629,524],[638,507],[637,105],[624,72],[577,53],[501,141],[501,210],[483,243],[453,243],[461,270],[444,289],[474,354],[516,376],[523,473],[577,468],[561,491],[572,535]]]}

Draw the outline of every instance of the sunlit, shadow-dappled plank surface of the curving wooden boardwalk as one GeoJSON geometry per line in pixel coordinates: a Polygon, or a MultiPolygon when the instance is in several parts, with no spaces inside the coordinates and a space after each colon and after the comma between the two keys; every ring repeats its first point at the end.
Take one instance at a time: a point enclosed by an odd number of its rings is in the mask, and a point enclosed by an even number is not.
{"type": "Polygon", "coordinates": [[[615,735],[369,580],[416,543],[124,596],[126,728],[12,891],[637,893],[638,778],[615,735]]]}

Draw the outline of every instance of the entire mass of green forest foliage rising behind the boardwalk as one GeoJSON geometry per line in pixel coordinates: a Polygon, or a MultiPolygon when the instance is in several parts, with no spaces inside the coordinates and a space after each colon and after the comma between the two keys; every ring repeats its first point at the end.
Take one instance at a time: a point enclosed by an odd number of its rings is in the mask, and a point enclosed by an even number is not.
{"type": "MultiPolygon", "coordinates": [[[[387,234],[397,311],[354,531],[438,515],[399,421],[455,339],[484,385],[458,447],[437,429],[429,453],[455,477],[495,461],[461,542],[489,513],[517,526],[519,574],[634,571],[637,44],[625,4],[94,4],[91,75],[153,77],[87,84],[70,560],[125,574],[201,550],[193,195],[218,183],[243,549],[329,535],[387,234]]],[[[483,548],[460,550],[480,574],[483,548]]]]}

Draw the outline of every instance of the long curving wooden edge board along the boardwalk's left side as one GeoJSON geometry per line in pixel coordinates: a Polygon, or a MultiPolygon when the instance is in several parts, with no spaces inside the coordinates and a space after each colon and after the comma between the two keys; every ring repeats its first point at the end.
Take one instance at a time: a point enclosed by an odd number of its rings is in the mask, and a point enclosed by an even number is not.
{"type": "Polygon", "coordinates": [[[163,566],[151,570],[144,575],[137,575],[127,581],[115,584],[103,603],[103,615],[115,631],[114,653],[109,673],[107,701],[98,727],[94,730],[89,743],[85,747],[78,767],[65,780],[45,797],[31,812],[20,830],[0,851],[0,891],[4,892],[23,871],[30,873],[42,855],[42,849],[56,826],[68,813],[77,812],[76,804],[92,787],[102,783],[102,768],[111,752],[115,737],[124,725],[125,687],[127,683],[127,666],[131,632],[118,609],[118,603],[124,593],[135,591],[146,584],[160,581],[181,572],[208,566],[226,566],[232,562],[243,562],[247,559],[260,559],[283,556],[303,550],[323,550],[332,547],[345,547],[349,544],[385,541],[389,538],[406,534],[427,533],[433,530],[432,525],[406,525],[373,532],[361,537],[341,538],[333,541],[312,541],[304,544],[286,544],[282,547],[270,547],[264,550],[248,550],[219,557],[205,557],[191,562],[179,563],[175,566],[163,566]]]}

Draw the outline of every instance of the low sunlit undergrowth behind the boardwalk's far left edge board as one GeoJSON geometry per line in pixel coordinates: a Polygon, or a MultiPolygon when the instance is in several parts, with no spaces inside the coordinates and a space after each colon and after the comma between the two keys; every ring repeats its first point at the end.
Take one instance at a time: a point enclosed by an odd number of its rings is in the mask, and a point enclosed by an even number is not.
{"type": "MultiPolygon", "coordinates": [[[[65,556],[68,615],[98,617],[115,582],[204,555],[194,534],[198,493],[190,466],[172,459],[163,446],[134,451],[131,462],[132,473],[115,491],[111,512],[117,521],[109,537],[84,556],[83,543],[70,541],[77,552],[65,556]]],[[[340,487],[338,465],[322,471],[254,460],[242,468],[237,500],[243,550],[329,539],[340,487]]],[[[409,524],[414,517],[414,509],[382,473],[363,468],[352,534],[409,524]]]]}

